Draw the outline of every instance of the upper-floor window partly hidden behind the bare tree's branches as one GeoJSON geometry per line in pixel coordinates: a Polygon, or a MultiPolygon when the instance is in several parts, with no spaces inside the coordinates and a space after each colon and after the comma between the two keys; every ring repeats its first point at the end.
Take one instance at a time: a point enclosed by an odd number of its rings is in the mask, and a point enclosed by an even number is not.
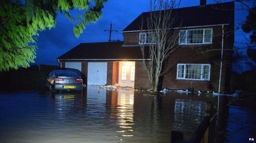
{"type": "Polygon", "coordinates": [[[157,42],[156,33],[148,32],[148,33],[140,33],[140,41],[139,44],[155,44],[157,42]]]}

